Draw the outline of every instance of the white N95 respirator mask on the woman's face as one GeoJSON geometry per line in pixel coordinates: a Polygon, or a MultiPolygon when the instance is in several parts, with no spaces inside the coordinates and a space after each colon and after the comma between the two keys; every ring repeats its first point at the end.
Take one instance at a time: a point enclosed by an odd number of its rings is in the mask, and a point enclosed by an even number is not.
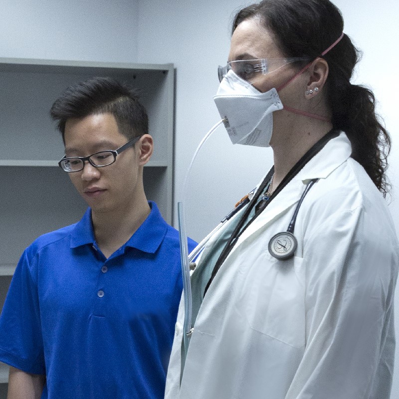
{"type": "Polygon", "coordinates": [[[283,109],[275,88],[261,93],[230,69],[213,100],[233,144],[270,146],[272,112],[283,109]]]}

